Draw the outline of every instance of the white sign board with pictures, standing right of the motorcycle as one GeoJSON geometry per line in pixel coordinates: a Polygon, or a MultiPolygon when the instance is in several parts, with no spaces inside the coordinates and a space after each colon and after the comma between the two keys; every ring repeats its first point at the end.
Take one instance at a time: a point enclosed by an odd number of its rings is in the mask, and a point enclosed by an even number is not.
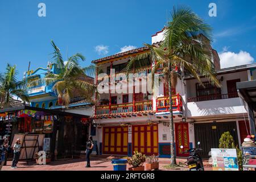
{"type": "Polygon", "coordinates": [[[238,171],[236,148],[211,148],[213,171],[238,171]]]}

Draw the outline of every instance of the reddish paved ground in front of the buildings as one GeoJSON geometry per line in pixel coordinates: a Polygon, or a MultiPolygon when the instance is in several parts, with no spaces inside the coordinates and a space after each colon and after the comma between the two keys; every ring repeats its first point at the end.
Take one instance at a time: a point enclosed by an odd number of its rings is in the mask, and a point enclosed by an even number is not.
{"type": "MultiPolygon", "coordinates": [[[[85,168],[85,157],[81,156],[79,159],[61,159],[51,162],[47,165],[37,165],[35,162],[20,161],[18,163],[18,168],[11,168],[11,161],[7,162],[7,166],[3,166],[2,171],[113,171],[113,165],[111,159],[118,158],[118,156],[108,156],[108,155],[92,155],[90,168],[85,168]]],[[[160,158],[159,159],[159,170],[162,171],[174,171],[174,169],[166,169],[170,159],[160,158]]],[[[185,162],[185,159],[177,159],[177,163],[185,162]]],[[[205,162],[205,170],[210,171],[212,168],[205,162]]],[[[127,165],[128,170],[129,165],[127,165]]],[[[188,170],[188,168],[181,167],[175,170],[188,170]]]]}

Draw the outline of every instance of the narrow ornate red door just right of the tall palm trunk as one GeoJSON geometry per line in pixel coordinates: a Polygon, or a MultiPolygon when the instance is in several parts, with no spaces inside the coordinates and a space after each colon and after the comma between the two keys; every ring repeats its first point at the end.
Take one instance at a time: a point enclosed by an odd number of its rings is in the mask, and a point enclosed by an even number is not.
{"type": "Polygon", "coordinates": [[[189,149],[188,123],[175,123],[175,140],[177,156],[188,156],[188,153],[182,154],[189,149]]]}

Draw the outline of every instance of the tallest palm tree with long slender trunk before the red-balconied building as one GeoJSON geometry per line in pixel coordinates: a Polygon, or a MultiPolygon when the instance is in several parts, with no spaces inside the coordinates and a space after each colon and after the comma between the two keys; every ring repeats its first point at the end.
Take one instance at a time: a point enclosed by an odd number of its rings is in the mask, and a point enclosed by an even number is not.
{"type": "MultiPolygon", "coordinates": [[[[164,30],[164,39],[158,45],[144,44],[150,51],[131,57],[126,69],[131,70],[138,65],[139,60],[150,56],[154,65],[152,73],[163,68],[164,81],[168,83],[170,103],[170,135],[171,135],[171,166],[176,166],[174,151],[174,119],[172,112],[172,88],[176,86],[177,73],[175,68],[182,68],[182,74],[191,74],[201,85],[201,76],[207,77],[209,82],[220,86],[214,74],[212,63],[212,48],[210,47],[211,28],[199,16],[185,6],[174,7],[172,19],[164,30]]],[[[143,63],[139,65],[143,66],[143,63]]],[[[154,77],[154,74],[152,74],[154,77]]],[[[182,77],[181,76],[181,80],[182,77]]]]}

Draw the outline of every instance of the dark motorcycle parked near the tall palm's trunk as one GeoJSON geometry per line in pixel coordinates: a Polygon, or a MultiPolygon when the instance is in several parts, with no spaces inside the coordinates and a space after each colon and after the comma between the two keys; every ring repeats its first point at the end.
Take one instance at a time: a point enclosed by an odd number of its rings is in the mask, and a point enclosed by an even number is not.
{"type": "MultiPolygon", "coordinates": [[[[200,142],[197,142],[197,146],[199,146],[199,144],[200,142]]],[[[183,148],[183,146],[180,146],[180,148],[183,148]]],[[[183,154],[189,152],[189,156],[186,162],[188,165],[189,171],[204,171],[203,160],[199,155],[199,151],[201,150],[202,150],[201,148],[197,147],[197,148],[190,148],[189,150],[186,150],[183,152],[183,154]]]]}

